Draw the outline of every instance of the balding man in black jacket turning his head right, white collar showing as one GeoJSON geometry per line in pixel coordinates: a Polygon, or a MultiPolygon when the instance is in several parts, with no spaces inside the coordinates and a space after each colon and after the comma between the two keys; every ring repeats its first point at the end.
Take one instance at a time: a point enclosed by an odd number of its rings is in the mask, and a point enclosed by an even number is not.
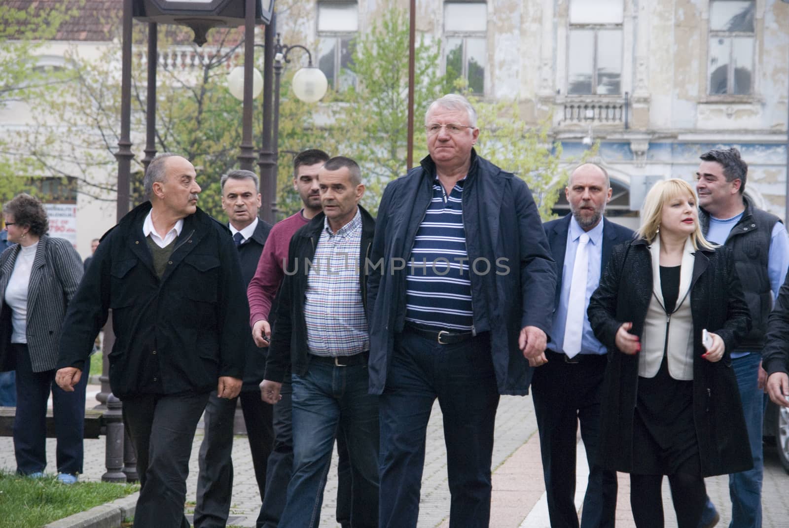
{"type": "Polygon", "coordinates": [[[248,316],[230,231],[197,208],[192,163],[162,154],[148,200],[104,234],[69,303],[55,381],[72,391],[112,309],[110,388],[137,456],[138,528],[189,528],[186,476],[197,421],[216,391],[233,399],[248,316]]]}

